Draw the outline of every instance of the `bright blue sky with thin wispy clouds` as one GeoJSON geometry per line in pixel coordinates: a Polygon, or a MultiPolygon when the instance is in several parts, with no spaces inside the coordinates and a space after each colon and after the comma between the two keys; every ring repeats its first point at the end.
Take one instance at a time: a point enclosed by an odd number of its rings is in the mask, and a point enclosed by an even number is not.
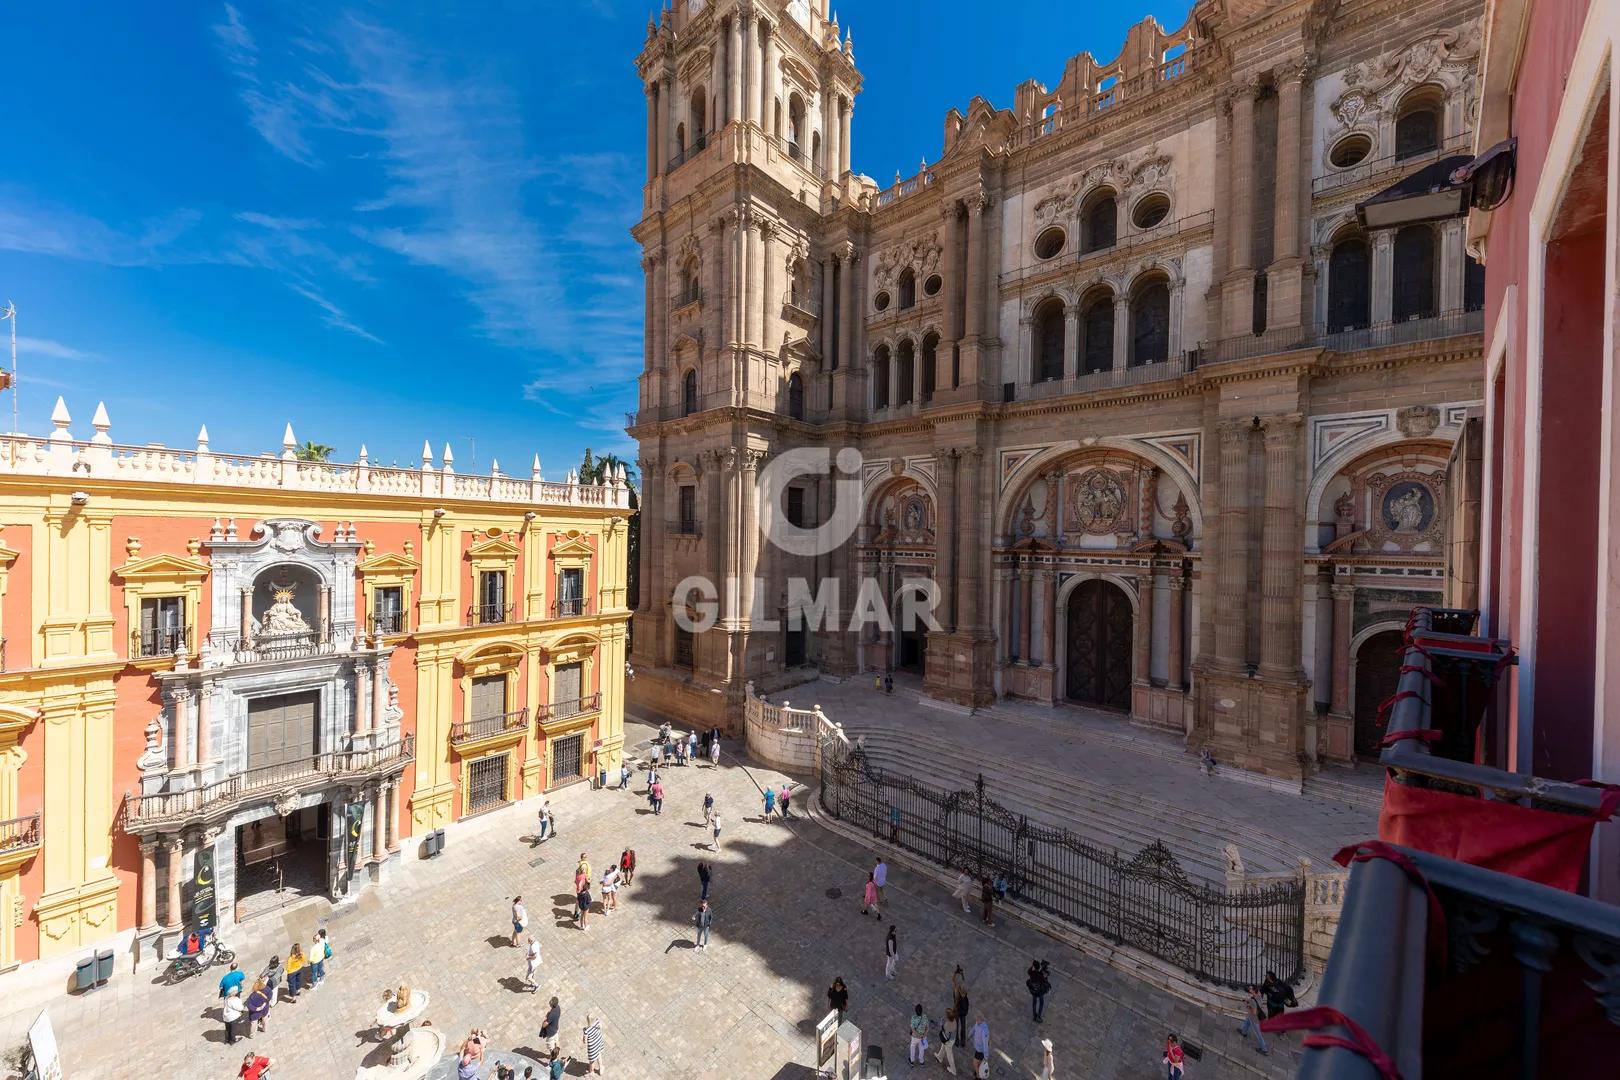
{"type": "MultiPolygon", "coordinates": [[[[1071,53],[1186,3],[842,3],[854,167],[938,157],[1071,53]]],[[[642,368],[637,0],[16,5],[0,91],[0,298],[21,426],[559,478],[622,432],[642,368]],[[476,447],[475,442],[476,440],[476,447]]],[[[0,411],[10,402],[0,400],[0,411]]],[[[10,421],[10,418],[5,418],[10,421]]]]}

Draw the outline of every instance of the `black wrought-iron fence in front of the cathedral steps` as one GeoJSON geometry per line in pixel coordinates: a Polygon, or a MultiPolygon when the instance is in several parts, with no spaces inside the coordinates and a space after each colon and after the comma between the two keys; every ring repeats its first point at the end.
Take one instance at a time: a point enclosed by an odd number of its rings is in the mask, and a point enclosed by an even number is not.
{"type": "Polygon", "coordinates": [[[1008,895],[1221,986],[1259,986],[1268,972],[1304,975],[1304,881],[1243,892],[1192,881],[1155,840],[1121,855],[1013,813],[985,792],[944,790],[888,774],[860,750],[823,742],[821,806],[841,821],[1008,895]]]}

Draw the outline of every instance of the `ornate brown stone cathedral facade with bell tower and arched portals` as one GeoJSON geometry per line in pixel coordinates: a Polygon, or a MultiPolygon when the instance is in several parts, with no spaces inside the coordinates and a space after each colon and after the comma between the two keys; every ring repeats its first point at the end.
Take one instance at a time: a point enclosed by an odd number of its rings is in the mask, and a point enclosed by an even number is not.
{"type": "Polygon", "coordinates": [[[1482,306],[1461,209],[1375,196],[1469,155],[1481,6],[1200,0],[949,110],[889,186],[849,167],[825,0],[666,10],[632,699],[734,724],[748,682],[914,670],[1285,780],[1375,753],[1406,612],[1456,573],[1482,306]],[[828,470],[761,483],[802,450],[828,470]],[[846,500],[836,546],[761,531],[846,500]]]}

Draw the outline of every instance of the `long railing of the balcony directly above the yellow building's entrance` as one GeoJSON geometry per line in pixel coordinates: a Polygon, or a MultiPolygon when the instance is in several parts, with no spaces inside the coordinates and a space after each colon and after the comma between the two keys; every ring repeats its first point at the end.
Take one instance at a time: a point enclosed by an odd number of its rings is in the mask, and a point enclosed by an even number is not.
{"type": "Polygon", "coordinates": [[[332,780],[392,772],[416,756],[416,737],[364,750],[329,750],[296,761],[266,764],[185,792],[125,797],[128,827],[149,829],[188,818],[225,818],[246,798],[318,787],[332,780]]]}

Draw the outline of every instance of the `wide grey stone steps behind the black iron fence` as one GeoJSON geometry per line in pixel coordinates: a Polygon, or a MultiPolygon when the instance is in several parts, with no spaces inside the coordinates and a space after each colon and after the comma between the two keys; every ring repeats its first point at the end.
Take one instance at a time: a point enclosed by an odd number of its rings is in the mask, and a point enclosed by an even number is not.
{"type": "MultiPolygon", "coordinates": [[[[1225,882],[1223,845],[1236,842],[1251,873],[1290,871],[1301,855],[1296,844],[1249,826],[1238,826],[1186,806],[1082,779],[1072,772],[987,753],[982,746],[930,737],[925,746],[897,730],[846,729],[862,738],[878,767],[944,789],[972,789],[983,772],[988,795],[1008,810],[1123,855],[1158,840],[1189,876],[1225,882]]],[[[1196,782],[1197,774],[1189,774],[1196,782]]]]}

